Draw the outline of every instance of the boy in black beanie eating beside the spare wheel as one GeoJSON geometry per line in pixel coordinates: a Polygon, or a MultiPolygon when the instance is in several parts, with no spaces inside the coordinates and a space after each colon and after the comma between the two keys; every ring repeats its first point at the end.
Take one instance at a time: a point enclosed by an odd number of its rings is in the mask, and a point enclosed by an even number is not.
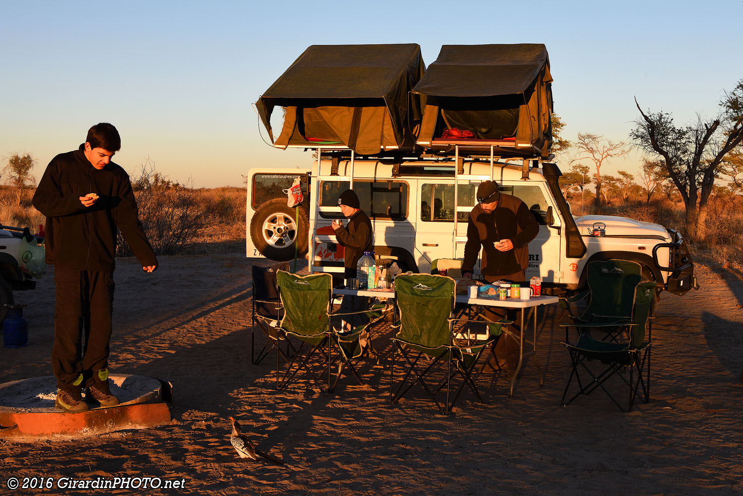
{"type": "MultiPolygon", "coordinates": [[[[353,190],[345,190],[338,197],[338,206],[343,216],[348,218],[348,226],[343,227],[339,219],[333,221],[332,227],[335,231],[338,244],[345,248],[343,254],[343,267],[345,267],[345,278],[356,277],[356,265],[364,251],[374,249],[374,236],[371,233],[371,221],[369,216],[360,210],[359,197],[353,190]]],[[[338,312],[349,313],[354,310],[365,309],[369,305],[368,297],[343,297],[343,303],[338,312]],[[351,305],[351,300],[354,304],[351,305]]],[[[343,319],[342,326],[346,329],[352,327],[343,319]]]]}

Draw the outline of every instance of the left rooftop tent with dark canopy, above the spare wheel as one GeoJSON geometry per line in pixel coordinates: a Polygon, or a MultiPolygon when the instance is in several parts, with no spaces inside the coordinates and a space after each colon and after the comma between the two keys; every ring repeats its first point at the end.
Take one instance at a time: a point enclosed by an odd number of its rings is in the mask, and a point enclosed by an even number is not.
{"type": "Polygon", "coordinates": [[[425,71],[421,47],[312,45],[258,100],[273,146],[347,146],[360,155],[415,146],[421,97],[410,90],[425,71]],[[285,107],[274,140],[270,116],[285,107]]]}

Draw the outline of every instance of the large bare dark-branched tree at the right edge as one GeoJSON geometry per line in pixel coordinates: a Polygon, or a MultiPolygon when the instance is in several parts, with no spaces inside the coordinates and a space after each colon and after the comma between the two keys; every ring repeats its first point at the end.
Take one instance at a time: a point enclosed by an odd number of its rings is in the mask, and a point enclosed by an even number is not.
{"type": "Polygon", "coordinates": [[[684,199],[687,236],[704,239],[715,177],[725,155],[743,141],[743,79],[733,91],[725,92],[717,117],[704,120],[697,115],[695,122],[685,126],[676,126],[667,112],[646,114],[637,99],[635,105],[641,117],[630,132],[632,141],[666,162],[668,175],[684,199]]]}

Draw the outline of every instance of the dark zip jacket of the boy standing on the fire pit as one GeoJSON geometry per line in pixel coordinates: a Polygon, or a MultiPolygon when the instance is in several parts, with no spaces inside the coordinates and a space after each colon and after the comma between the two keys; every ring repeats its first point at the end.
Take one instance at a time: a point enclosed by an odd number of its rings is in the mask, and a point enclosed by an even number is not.
{"type": "Polygon", "coordinates": [[[49,162],[33,206],[46,219],[46,260],[85,271],[113,271],[117,230],[143,267],[158,265],[137,215],[129,175],[114,162],[97,170],[80,149],[60,153],[49,162]],[[99,198],[84,207],[80,197],[99,198]]]}

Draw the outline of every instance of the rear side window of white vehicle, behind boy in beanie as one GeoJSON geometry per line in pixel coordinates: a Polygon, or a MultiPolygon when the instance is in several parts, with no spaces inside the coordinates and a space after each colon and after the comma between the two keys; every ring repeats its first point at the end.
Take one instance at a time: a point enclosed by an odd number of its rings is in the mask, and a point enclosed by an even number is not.
{"type": "MultiPolygon", "coordinates": [[[[348,181],[323,181],[320,206],[337,207],[338,196],[348,190],[348,181]]],[[[405,219],[408,214],[408,184],[403,181],[354,181],[361,210],[371,219],[405,219]]],[[[325,219],[342,217],[340,213],[321,212],[325,219]]]]}

